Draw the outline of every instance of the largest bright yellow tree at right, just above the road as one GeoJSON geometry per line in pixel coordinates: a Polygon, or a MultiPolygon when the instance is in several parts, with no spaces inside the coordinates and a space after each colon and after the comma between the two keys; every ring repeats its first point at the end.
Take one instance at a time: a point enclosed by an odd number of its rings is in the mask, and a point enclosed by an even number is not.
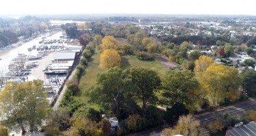
{"type": "Polygon", "coordinates": [[[235,101],[240,97],[241,80],[238,70],[233,67],[213,63],[197,75],[197,78],[199,78],[201,87],[205,90],[203,93],[209,95],[213,105],[220,102],[235,101]]]}

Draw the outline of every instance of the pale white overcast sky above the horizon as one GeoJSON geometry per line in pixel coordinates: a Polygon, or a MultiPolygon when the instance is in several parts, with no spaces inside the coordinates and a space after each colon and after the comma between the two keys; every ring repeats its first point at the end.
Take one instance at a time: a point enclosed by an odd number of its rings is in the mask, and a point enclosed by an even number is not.
{"type": "Polygon", "coordinates": [[[1,0],[1,15],[19,14],[246,14],[255,0],[1,0]]]}

